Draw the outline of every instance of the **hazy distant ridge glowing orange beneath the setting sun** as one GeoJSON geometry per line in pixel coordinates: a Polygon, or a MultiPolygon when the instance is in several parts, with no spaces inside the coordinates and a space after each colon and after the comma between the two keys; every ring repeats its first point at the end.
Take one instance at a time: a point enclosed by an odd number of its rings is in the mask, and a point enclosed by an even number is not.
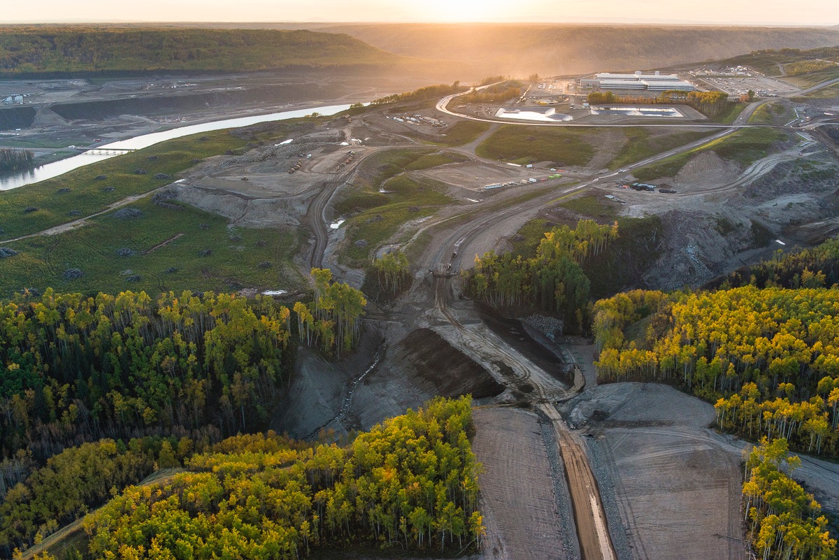
{"type": "Polygon", "coordinates": [[[345,33],[397,54],[468,64],[475,75],[581,74],[726,59],[760,49],[839,44],[839,26],[779,28],[616,24],[343,24],[345,33]]]}

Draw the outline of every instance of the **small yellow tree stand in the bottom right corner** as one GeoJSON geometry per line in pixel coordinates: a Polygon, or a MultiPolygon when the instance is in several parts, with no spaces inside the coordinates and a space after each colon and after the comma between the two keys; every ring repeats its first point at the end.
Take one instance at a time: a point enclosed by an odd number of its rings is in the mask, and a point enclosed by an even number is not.
{"type": "Polygon", "coordinates": [[[763,438],[746,459],[743,511],[748,540],[763,560],[831,560],[836,539],[821,506],[789,476],[800,459],[789,456],[784,438],[763,438]]]}

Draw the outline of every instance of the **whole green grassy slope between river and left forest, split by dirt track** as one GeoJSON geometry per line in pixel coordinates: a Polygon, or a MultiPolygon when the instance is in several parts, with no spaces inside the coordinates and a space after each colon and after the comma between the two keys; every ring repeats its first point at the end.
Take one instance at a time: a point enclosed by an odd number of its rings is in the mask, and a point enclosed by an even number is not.
{"type": "MultiPolygon", "coordinates": [[[[261,127],[263,132],[252,140],[286,137],[289,131],[310,127],[314,119],[295,119],[261,127]]],[[[167,181],[154,179],[155,173],[174,175],[189,169],[193,158],[205,158],[227,149],[235,152],[246,140],[229,131],[208,132],[160,143],[144,150],[104,162],[93,163],[56,179],[42,181],[21,189],[0,193],[0,227],[3,239],[42,231],[76,217],[68,210],[91,215],[129,195],[148,193],[167,181]],[[205,138],[201,140],[201,137],[205,138]],[[158,159],[149,160],[149,156],[158,159]],[[147,174],[133,174],[133,169],[147,174]],[[107,175],[105,180],[96,176],[107,175]],[[113,186],[112,193],[102,189],[113,186]],[[70,193],[57,190],[69,188],[70,193]],[[24,213],[27,205],[39,207],[24,213]]],[[[58,236],[37,236],[5,243],[19,254],[3,259],[0,293],[8,295],[22,288],[52,286],[67,291],[116,292],[145,289],[149,292],[173,289],[229,291],[240,287],[294,289],[301,285],[296,268],[291,265],[298,245],[294,231],[276,229],[230,231],[227,219],[185,206],[169,210],[149,199],[138,200],[131,207],[143,211],[136,219],[118,220],[107,213],[88,220],[75,231],[58,236]],[[204,224],[208,227],[202,228],[204,224]],[[176,239],[173,239],[178,236],[176,239]],[[235,237],[240,236],[241,240],[235,237]],[[171,240],[171,241],[170,241],[171,240]],[[154,251],[149,251],[161,243],[154,251]],[[133,257],[119,257],[117,249],[137,251],[133,257]],[[199,251],[212,254],[200,257],[199,251]],[[148,254],[143,254],[149,251],[148,254]],[[270,267],[260,268],[262,262],[270,267]],[[170,267],[177,272],[164,272],[170,267]],[[65,270],[79,268],[84,276],[65,280],[65,270]],[[130,274],[125,273],[131,270],[130,274]],[[139,275],[137,282],[128,276],[139,275]]]]}

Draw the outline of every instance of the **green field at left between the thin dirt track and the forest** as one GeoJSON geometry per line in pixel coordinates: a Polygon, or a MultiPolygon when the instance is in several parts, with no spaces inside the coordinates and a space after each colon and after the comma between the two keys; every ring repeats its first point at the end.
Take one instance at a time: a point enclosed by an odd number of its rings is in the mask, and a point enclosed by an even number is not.
{"type": "Polygon", "coordinates": [[[227,218],[187,205],[172,210],[141,200],[130,208],[143,215],[120,220],[111,212],[59,236],[6,244],[19,253],[3,259],[0,295],[47,287],[82,293],[291,291],[304,284],[291,263],[299,245],[296,231],[232,229],[227,218]],[[136,254],[121,257],[117,250],[123,248],[136,254]],[[202,257],[206,250],[211,254],[202,257]],[[263,262],[270,267],[260,267],[263,262]],[[173,267],[175,271],[166,272],[173,267]],[[70,268],[80,269],[84,276],[65,279],[70,268]]]}

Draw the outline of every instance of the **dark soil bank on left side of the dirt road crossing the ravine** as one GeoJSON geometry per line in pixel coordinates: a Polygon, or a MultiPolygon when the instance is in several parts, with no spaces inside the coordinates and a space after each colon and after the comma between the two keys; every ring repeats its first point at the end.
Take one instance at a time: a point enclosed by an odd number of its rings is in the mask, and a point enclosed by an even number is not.
{"type": "Polygon", "coordinates": [[[399,365],[406,377],[413,377],[432,394],[489,398],[504,391],[488,371],[430,329],[409,334],[395,346],[392,360],[393,366],[399,365]]]}

